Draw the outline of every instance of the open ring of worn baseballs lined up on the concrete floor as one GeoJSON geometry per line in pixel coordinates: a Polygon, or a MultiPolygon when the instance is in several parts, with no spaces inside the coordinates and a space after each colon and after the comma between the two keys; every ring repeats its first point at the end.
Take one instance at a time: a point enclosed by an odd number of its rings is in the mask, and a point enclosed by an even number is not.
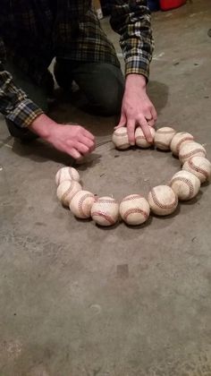
{"type": "MultiPolygon", "coordinates": [[[[98,197],[83,190],[80,174],[73,167],[62,167],[55,175],[57,197],[63,206],[69,207],[76,218],[92,218],[99,226],[114,226],[122,219],[130,226],[141,225],[149,218],[150,212],[157,216],[172,214],[179,201],[188,201],[197,196],[200,185],[209,181],[211,163],[207,152],[200,143],[194,141],[189,132],[176,132],[171,127],[162,127],[155,131],[150,128],[153,141],[150,143],[140,127],[136,129],[136,146],[147,149],[171,150],[179,158],[181,170],[173,175],[166,185],[157,185],[148,193],[148,199],[142,195],[130,194],[121,202],[113,197],[98,197]]],[[[117,128],[112,136],[119,150],[130,148],[127,129],[117,128]]]]}

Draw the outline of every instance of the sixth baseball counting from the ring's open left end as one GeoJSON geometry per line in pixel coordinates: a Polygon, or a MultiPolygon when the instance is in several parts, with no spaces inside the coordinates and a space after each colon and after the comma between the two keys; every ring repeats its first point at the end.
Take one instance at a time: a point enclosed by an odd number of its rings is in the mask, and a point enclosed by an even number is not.
{"type": "Polygon", "coordinates": [[[157,216],[167,216],[177,208],[178,198],[168,185],[157,185],[148,193],[148,203],[157,216]]]}

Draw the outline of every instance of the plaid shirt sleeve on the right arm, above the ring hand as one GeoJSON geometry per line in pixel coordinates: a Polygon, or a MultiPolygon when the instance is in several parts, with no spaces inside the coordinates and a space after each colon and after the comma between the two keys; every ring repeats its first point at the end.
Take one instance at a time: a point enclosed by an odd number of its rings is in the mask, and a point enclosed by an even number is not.
{"type": "Polygon", "coordinates": [[[143,74],[148,80],[154,41],[147,0],[114,1],[111,26],[121,36],[126,75],[143,74]]]}

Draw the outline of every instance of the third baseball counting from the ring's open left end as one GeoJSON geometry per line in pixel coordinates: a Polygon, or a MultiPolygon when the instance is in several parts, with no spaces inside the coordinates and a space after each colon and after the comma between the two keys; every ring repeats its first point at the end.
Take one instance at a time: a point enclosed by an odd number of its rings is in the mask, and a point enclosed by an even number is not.
{"type": "Polygon", "coordinates": [[[89,191],[76,192],[70,203],[72,214],[77,218],[90,218],[91,208],[95,200],[94,194],[89,191]]]}

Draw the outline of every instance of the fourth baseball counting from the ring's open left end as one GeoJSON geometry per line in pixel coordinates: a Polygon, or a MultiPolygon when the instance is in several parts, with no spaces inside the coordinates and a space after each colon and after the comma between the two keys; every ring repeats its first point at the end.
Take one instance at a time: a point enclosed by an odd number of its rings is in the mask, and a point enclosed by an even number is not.
{"type": "Polygon", "coordinates": [[[91,218],[100,226],[113,226],[119,218],[119,204],[112,197],[99,197],[91,208],[91,218]]]}

